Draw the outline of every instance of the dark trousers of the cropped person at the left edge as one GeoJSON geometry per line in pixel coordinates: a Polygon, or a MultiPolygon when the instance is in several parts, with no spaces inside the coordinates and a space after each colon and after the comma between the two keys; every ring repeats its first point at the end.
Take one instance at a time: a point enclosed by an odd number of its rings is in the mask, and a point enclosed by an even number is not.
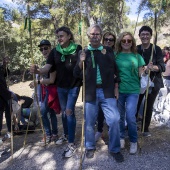
{"type": "MultiPolygon", "coordinates": [[[[3,112],[4,110],[0,110],[0,131],[2,130],[3,124],[3,112]]],[[[11,132],[11,113],[10,113],[10,104],[5,104],[5,118],[6,118],[6,125],[8,128],[8,132],[11,132]]]]}

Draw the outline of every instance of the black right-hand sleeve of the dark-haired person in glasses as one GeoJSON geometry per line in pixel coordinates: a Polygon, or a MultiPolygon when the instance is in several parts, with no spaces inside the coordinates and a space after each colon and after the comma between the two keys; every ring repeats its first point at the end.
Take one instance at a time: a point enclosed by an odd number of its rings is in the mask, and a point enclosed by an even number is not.
{"type": "Polygon", "coordinates": [[[162,54],[162,50],[159,46],[156,46],[155,53],[156,53],[156,63],[153,63],[153,64],[158,66],[160,72],[165,72],[165,64],[163,61],[163,54],[162,54]]]}

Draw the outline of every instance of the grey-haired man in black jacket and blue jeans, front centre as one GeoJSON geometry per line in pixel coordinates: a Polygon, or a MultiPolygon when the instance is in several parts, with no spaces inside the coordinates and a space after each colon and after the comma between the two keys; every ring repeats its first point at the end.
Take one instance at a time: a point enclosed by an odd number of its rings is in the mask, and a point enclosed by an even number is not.
{"type": "Polygon", "coordinates": [[[101,106],[106,123],[109,126],[109,152],[117,162],[123,162],[120,152],[120,115],[115,98],[119,76],[114,60],[113,49],[103,46],[102,29],[95,24],[88,28],[90,44],[80,53],[79,61],[74,68],[74,76],[82,78],[85,62],[85,148],[86,157],[93,158],[95,142],[95,122],[98,106],[101,106]]]}

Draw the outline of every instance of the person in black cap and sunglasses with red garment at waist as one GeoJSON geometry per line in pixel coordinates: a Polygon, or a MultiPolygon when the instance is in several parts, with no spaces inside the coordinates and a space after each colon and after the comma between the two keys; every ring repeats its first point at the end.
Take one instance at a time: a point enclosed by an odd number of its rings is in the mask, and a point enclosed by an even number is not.
{"type": "MultiPolygon", "coordinates": [[[[48,40],[42,40],[38,45],[39,50],[44,56],[44,61],[42,66],[46,64],[48,55],[51,52],[51,43],[48,40]]],[[[39,99],[41,101],[41,115],[43,126],[46,133],[46,143],[56,142],[58,139],[58,126],[57,126],[57,117],[56,113],[60,112],[57,88],[56,88],[56,71],[52,67],[48,74],[38,75],[37,87],[39,93],[39,99]],[[51,92],[53,93],[51,95],[51,92]],[[49,99],[53,96],[53,103],[50,103],[49,99]],[[50,119],[48,118],[48,114],[50,119]]],[[[33,84],[30,84],[30,87],[33,87],[33,84]]],[[[40,141],[44,144],[44,139],[40,141]]]]}

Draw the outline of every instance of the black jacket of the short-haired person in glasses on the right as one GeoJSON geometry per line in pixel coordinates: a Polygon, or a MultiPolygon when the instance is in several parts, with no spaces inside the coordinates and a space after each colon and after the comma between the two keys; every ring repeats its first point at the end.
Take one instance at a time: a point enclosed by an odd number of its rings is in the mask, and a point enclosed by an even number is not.
{"type": "MultiPolygon", "coordinates": [[[[146,65],[150,61],[151,52],[152,52],[152,44],[148,49],[143,50],[141,45],[137,46],[138,53],[143,57],[146,65]]],[[[160,88],[164,87],[162,80],[162,72],[165,71],[165,64],[163,61],[162,50],[159,46],[155,46],[153,49],[153,65],[157,65],[159,68],[159,72],[152,72],[150,74],[151,80],[154,82],[154,90],[159,91],[160,88]]]]}

